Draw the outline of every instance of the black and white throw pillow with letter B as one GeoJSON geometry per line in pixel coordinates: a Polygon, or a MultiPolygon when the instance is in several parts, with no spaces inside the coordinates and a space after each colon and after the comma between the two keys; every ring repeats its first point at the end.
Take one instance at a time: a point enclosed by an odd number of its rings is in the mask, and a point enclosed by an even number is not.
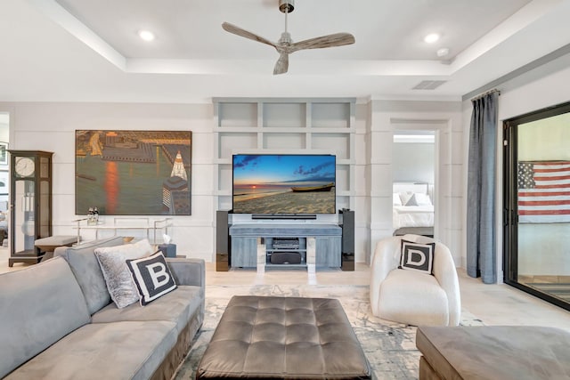
{"type": "Polygon", "coordinates": [[[142,306],[176,288],[175,278],[160,251],[142,259],[127,260],[126,266],[133,275],[142,306]]]}

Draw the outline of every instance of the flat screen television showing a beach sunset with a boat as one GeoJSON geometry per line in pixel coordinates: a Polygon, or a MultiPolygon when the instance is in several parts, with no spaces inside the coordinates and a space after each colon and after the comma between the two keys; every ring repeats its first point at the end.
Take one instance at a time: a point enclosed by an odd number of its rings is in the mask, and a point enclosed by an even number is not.
{"type": "Polygon", "coordinates": [[[236,154],[234,214],[336,214],[334,155],[236,154]]]}

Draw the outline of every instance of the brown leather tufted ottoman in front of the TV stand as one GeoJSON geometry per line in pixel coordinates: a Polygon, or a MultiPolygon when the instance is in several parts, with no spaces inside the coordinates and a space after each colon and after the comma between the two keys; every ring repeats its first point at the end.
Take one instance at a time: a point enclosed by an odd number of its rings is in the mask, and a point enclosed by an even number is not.
{"type": "Polygon", "coordinates": [[[336,299],[232,297],[197,379],[370,379],[371,368],[336,299]]]}

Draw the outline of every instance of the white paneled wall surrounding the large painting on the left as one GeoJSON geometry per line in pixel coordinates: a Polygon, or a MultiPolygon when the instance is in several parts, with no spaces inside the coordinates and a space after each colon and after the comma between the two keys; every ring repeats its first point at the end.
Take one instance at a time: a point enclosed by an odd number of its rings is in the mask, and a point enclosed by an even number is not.
{"type": "MultiPolygon", "coordinates": [[[[214,258],[211,104],[0,103],[10,112],[10,147],[53,151],[53,234],[75,235],[75,130],[191,130],[192,210],[169,230],[181,255],[214,258]]],[[[102,219],[109,216],[102,215],[102,219]]],[[[94,238],[82,230],[85,239],[94,238]]],[[[130,231],[129,231],[130,233],[130,231]]]]}

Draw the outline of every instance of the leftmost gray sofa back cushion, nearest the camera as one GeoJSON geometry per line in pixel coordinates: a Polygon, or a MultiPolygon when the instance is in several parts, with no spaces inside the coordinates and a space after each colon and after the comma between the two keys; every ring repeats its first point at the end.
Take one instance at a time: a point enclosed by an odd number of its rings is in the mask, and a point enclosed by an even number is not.
{"type": "Polygon", "coordinates": [[[0,289],[0,377],[89,323],[81,288],[61,257],[1,274],[0,289]]]}

